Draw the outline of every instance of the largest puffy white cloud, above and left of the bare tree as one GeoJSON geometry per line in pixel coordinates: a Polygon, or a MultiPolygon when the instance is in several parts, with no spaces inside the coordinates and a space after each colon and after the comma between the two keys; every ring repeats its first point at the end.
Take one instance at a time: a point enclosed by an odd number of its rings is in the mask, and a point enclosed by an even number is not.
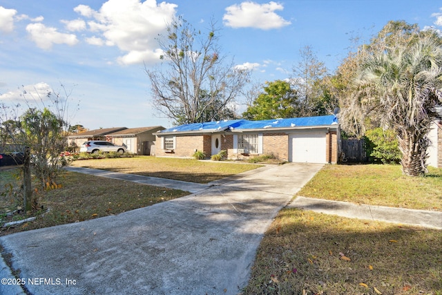
{"type": "MultiPolygon", "coordinates": [[[[88,21],[88,28],[101,34],[99,37],[105,40],[104,44],[117,46],[127,53],[118,58],[119,63],[137,64],[159,59],[155,37],[165,32],[166,24],[175,16],[175,8],[176,4],[157,4],[156,0],[108,0],[99,11],[84,5],[74,10],[84,17],[93,18],[88,21]]],[[[99,37],[88,39],[88,43],[97,42],[99,37]]],[[[96,44],[102,45],[100,42],[96,44]]]]}

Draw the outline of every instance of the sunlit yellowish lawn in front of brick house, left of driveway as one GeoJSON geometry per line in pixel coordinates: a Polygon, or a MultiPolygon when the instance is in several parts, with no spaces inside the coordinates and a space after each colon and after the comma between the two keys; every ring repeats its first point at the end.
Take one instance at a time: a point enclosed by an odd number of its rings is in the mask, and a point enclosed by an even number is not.
{"type": "Polygon", "coordinates": [[[151,156],[81,160],[73,162],[72,166],[197,183],[208,183],[260,167],[257,164],[206,162],[193,159],[155,158],[151,156]]]}

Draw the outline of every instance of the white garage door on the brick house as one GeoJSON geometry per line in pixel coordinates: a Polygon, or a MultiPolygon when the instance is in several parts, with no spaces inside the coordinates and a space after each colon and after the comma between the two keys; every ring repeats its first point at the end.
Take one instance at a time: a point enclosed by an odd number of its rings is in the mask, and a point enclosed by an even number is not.
{"type": "Polygon", "coordinates": [[[325,133],[299,133],[289,136],[289,161],[326,163],[325,133]]]}

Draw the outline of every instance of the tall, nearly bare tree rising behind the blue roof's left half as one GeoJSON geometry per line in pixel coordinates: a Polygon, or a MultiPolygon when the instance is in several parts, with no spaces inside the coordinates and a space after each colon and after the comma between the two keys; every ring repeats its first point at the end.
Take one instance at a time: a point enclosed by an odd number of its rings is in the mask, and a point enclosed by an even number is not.
{"type": "Polygon", "coordinates": [[[179,18],[167,34],[158,39],[166,68],[146,69],[153,106],[175,124],[203,122],[208,113],[223,113],[248,81],[249,70],[226,63],[214,23],[203,34],[179,18]]]}

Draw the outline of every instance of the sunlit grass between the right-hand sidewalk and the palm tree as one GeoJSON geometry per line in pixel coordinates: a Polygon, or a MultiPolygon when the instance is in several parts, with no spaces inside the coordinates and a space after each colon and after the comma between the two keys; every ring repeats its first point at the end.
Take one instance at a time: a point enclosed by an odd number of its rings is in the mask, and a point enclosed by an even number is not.
{"type": "Polygon", "coordinates": [[[442,211],[442,169],[411,178],[398,165],[326,165],[297,195],[442,211]]]}

